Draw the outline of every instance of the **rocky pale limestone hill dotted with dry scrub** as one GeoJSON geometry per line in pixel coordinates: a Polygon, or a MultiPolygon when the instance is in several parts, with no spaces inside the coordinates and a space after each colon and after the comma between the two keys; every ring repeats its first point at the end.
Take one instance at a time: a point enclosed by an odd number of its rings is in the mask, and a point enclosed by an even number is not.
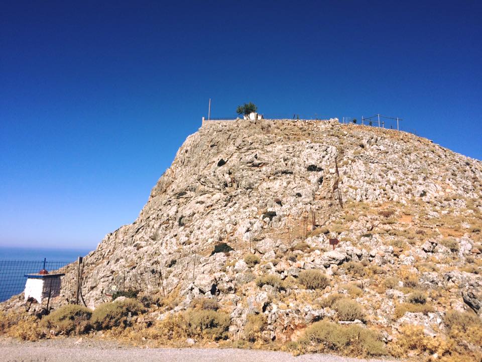
{"type": "Polygon", "coordinates": [[[446,333],[447,312],[482,314],[481,197],[482,162],[411,133],[209,121],[137,220],[85,257],[82,297],[95,308],[137,293],[154,321],[215,300],[232,339],[250,315],[269,341],[322,319],[386,343],[406,325],[446,333]]]}

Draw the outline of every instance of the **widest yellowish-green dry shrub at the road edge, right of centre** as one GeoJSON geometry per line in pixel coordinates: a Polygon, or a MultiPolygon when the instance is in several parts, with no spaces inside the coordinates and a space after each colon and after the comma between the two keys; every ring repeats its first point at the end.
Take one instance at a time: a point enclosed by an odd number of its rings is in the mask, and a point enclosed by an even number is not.
{"type": "Polygon", "coordinates": [[[342,326],[320,321],[308,327],[299,340],[304,351],[337,351],[355,356],[386,354],[380,335],[369,328],[358,325],[342,326]]]}

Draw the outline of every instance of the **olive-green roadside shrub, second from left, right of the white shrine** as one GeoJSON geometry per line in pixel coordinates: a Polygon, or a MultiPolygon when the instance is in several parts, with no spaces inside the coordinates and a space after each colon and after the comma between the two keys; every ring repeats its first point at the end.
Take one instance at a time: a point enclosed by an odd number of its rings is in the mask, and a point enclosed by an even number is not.
{"type": "Polygon", "coordinates": [[[131,317],[142,313],[143,305],[135,299],[100,304],[92,313],[92,326],[97,329],[128,327],[131,317]]]}

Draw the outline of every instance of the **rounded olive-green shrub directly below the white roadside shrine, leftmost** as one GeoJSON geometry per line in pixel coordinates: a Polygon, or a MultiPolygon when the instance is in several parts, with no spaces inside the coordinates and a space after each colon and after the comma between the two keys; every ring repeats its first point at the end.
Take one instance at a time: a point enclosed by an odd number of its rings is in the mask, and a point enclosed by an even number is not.
{"type": "Polygon", "coordinates": [[[40,325],[55,334],[82,334],[91,329],[92,311],[76,304],[68,304],[42,318],[40,325]]]}

